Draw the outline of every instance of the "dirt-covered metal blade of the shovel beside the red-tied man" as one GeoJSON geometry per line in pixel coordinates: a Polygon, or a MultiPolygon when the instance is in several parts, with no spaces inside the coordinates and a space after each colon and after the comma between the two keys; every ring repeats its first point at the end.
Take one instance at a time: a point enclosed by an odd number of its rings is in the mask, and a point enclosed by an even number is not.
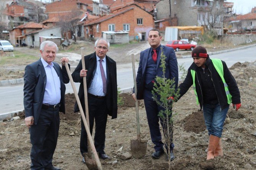
{"type": "Polygon", "coordinates": [[[147,152],[147,140],[131,140],[131,154],[134,158],[142,158],[147,152]]]}

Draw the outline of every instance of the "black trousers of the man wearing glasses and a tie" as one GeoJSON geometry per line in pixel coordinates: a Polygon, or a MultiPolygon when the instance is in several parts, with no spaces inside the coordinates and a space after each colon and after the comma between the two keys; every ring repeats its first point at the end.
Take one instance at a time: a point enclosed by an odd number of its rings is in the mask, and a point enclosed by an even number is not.
{"type": "MultiPolygon", "coordinates": [[[[96,98],[88,96],[88,108],[89,108],[89,122],[90,133],[95,119],[95,134],[94,134],[94,146],[99,154],[105,154],[105,131],[107,125],[107,102],[106,98],[96,98]]],[[[84,108],[83,108],[84,109],[84,108]]],[[[85,110],[85,109],[84,109],[85,110]]],[[[84,112],[85,113],[85,112],[84,112]]],[[[88,152],[87,149],[87,133],[84,127],[83,120],[81,120],[81,138],[80,138],[80,152],[88,152]]]]}

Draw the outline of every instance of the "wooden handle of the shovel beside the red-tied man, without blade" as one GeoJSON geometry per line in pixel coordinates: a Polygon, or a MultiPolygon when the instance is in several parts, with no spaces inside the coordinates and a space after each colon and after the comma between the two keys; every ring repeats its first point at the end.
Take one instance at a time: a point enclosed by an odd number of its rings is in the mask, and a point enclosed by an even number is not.
{"type": "Polygon", "coordinates": [[[141,141],[141,131],[139,128],[139,106],[137,100],[137,82],[136,82],[136,73],[135,73],[135,62],[134,62],[134,54],[131,54],[131,63],[133,64],[133,82],[134,82],[134,93],[135,93],[135,107],[136,107],[136,120],[137,120],[137,139],[141,141]]]}

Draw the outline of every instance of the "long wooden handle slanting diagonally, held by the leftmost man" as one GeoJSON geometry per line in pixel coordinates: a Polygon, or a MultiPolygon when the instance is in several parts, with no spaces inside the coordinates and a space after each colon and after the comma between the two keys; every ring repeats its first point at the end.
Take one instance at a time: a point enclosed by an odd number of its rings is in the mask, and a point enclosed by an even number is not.
{"type": "MultiPolygon", "coordinates": [[[[67,71],[67,73],[68,73],[68,77],[69,77],[69,79],[70,79],[70,83],[71,83],[71,86],[72,86],[72,88],[73,88],[73,91],[74,91],[74,94],[75,94],[75,97],[76,97],[76,102],[77,102],[77,104],[78,104],[78,107],[79,107],[79,110],[80,110],[80,113],[81,113],[81,117],[82,117],[83,122],[84,122],[84,127],[85,127],[85,130],[86,130],[86,133],[87,133],[87,138],[88,138],[89,143],[90,143],[90,145],[91,145],[92,152],[93,152],[94,157],[95,157],[95,160],[96,160],[97,168],[94,167],[93,164],[89,164],[90,167],[88,167],[87,164],[86,164],[86,165],[87,165],[88,169],[90,169],[90,168],[91,168],[91,169],[92,169],[92,168],[96,168],[96,169],[98,169],[98,170],[102,170],[102,167],[101,167],[101,164],[100,164],[100,160],[99,160],[99,156],[98,156],[98,154],[97,154],[97,152],[96,152],[94,143],[93,143],[93,141],[92,141],[92,136],[91,136],[89,127],[88,127],[88,125],[87,125],[87,122],[86,122],[86,119],[85,119],[85,116],[84,116],[84,111],[83,111],[81,102],[80,102],[80,100],[79,100],[78,93],[77,93],[77,91],[76,91],[76,86],[75,86],[75,83],[74,83],[73,78],[72,78],[72,76],[71,76],[70,70],[69,70],[69,68],[68,68],[68,63],[66,63],[66,62],[65,62],[65,67],[66,67],[66,71],[67,71]]],[[[91,169],[90,169],[90,170],[91,170],[91,169]]]]}

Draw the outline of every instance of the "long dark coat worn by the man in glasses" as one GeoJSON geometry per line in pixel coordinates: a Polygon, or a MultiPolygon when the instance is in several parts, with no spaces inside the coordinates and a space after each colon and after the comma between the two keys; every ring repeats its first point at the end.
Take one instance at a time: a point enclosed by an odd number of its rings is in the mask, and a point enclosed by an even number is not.
{"type": "MultiPolygon", "coordinates": [[[[96,72],[97,62],[96,62],[96,53],[91,53],[90,55],[84,56],[85,68],[87,71],[86,84],[87,90],[91,86],[92,79],[96,72]]],[[[117,64],[114,60],[106,55],[106,72],[107,72],[107,114],[112,116],[112,119],[117,118],[117,64]]],[[[80,77],[80,71],[82,70],[82,61],[80,60],[75,71],[72,73],[72,78],[74,82],[79,82],[79,92],[78,96],[81,102],[83,109],[85,108],[84,104],[84,83],[83,78],[80,77]]],[[[77,103],[75,104],[74,112],[78,112],[79,108],[77,103]]],[[[84,110],[85,112],[85,110],[84,110]]]]}

